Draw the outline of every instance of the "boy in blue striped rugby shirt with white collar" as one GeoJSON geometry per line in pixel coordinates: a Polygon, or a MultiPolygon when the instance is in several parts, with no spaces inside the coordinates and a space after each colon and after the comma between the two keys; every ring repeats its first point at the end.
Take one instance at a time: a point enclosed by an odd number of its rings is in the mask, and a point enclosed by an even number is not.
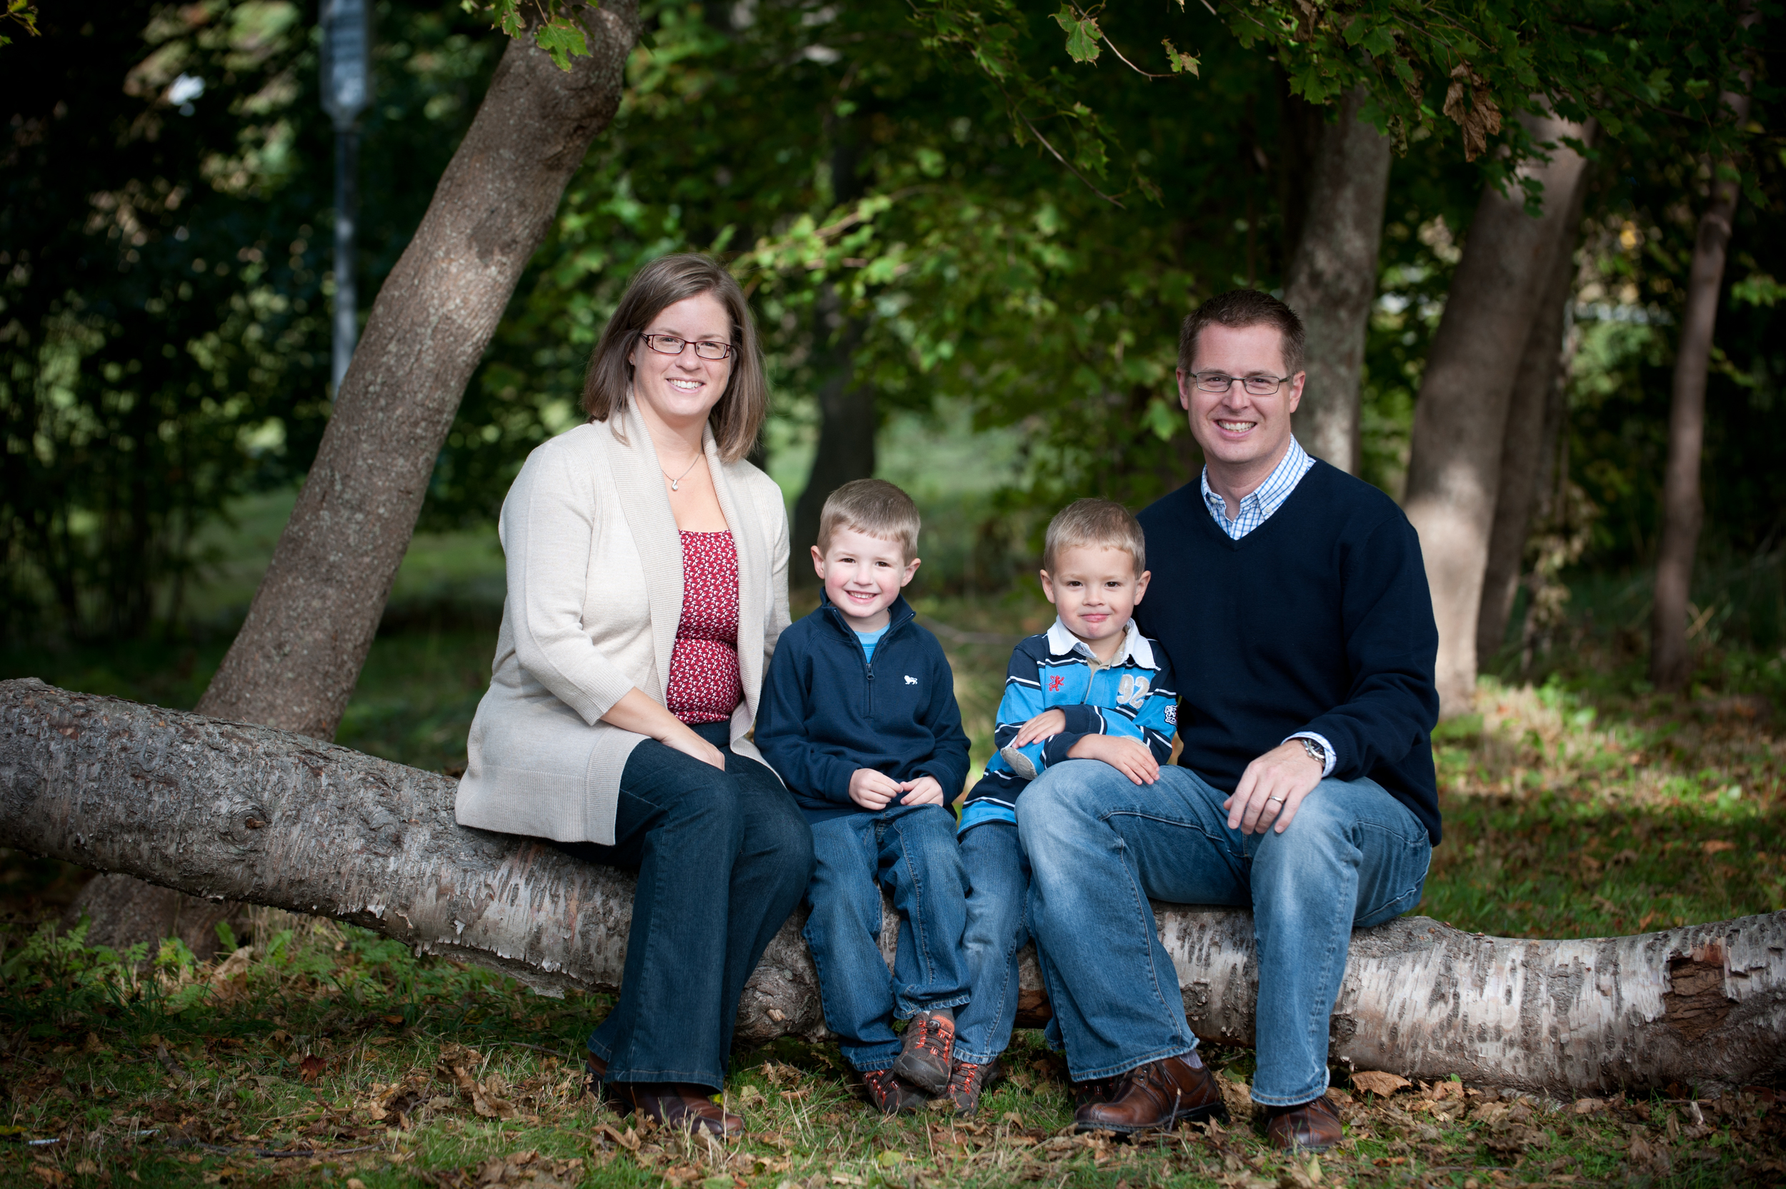
{"type": "Polygon", "coordinates": [[[1172,755],[1179,694],[1172,662],[1134,627],[1147,594],[1147,545],[1120,503],[1077,500],[1050,523],[1041,589],[1059,618],[1018,643],[998,703],[998,753],[961,805],[961,859],[972,880],[963,937],[972,1002],[956,1018],[950,1098],[979,1103],[1016,1019],[1016,952],[1029,930],[1029,871],[1018,852],[1023,786],[1054,764],[1111,764],[1154,784],[1172,755]]]}

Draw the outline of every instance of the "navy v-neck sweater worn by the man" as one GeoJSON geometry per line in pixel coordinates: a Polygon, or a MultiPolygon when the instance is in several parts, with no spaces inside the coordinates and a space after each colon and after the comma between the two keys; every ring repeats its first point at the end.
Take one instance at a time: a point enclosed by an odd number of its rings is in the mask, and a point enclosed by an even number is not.
{"type": "Polygon", "coordinates": [[[1139,521],[1154,580],[1136,621],[1177,671],[1179,762],[1232,793],[1256,757],[1313,730],[1334,744],[1334,778],[1370,777],[1438,843],[1440,634],[1402,509],[1316,462],[1239,541],[1197,482],[1139,521]]]}

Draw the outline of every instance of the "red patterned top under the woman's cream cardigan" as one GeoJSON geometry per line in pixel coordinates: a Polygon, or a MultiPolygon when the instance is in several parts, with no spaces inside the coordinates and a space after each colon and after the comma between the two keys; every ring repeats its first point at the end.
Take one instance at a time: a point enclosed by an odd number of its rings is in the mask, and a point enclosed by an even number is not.
{"type": "Polygon", "coordinates": [[[738,677],[738,548],[730,532],[682,534],[682,621],[664,705],[684,723],[723,723],[745,700],[738,677]]]}

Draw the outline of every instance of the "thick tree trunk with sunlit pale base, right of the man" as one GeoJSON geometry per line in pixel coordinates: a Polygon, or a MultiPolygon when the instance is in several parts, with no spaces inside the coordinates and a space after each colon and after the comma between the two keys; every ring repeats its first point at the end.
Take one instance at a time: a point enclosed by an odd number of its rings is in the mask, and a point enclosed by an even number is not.
{"type": "MultiPolygon", "coordinates": [[[[1534,139],[1582,136],[1563,120],[1525,118],[1534,139]]],[[[1488,539],[1500,486],[1500,445],[1507,400],[1532,312],[1559,232],[1568,195],[1586,161],[1561,143],[1548,162],[1520,166],[1543,182],[1541,218],[1525,214],[1523,195],[1488,187],[1465,239],[1463,261],[1445,298],[1427,371],[1415,402],[1407,462],[1407,520],[1420,532],[1432,612],[1440,627],[1440,714],[1466,714],[1475,694],[1475,627],[1488,570],[1488,539]]]]}

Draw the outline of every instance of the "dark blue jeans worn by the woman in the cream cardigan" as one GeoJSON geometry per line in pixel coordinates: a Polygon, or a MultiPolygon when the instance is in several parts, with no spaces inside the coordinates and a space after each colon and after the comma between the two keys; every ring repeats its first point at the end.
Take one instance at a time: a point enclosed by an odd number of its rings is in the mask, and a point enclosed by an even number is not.
{"type": "Polygon", "coordinates": [[[589,1035],[609,1082],[725,1085],[745,980],[813,873],[813,834],[775,773],[730,750],[727,723],[695,734],[725,771],[647,739],[620,777],[614,844],[563,844],[639,873],[620,1002],[589,1035]]]}

